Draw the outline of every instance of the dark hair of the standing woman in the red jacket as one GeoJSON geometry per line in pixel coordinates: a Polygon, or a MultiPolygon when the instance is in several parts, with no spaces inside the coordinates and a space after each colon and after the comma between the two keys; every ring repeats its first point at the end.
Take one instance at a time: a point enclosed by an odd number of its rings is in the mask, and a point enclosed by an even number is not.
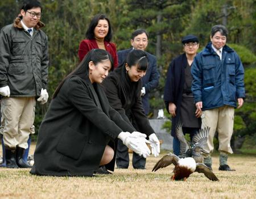
{"type": "Polygon", "coordinates": [[[101,19],[105,19],[108,21],[108,24],[109,24],[109,31],[108,31],[108,34],[105,36],[104,40],[105,41],[108,41],[110,42],[111,39],[112,39],[112,28],[111,28],[111,24],[110,24],[110,21],[109,19],[106,17],[106,15],[104,14],[97,14],[95,15],[92,20],[90,21],[90,24],[89,24],[89,27],[85,33],[85,37],[86,39],[95,39],[95,36],[94,36],[94,29],[95,27],[98,25],[98,21],[101,20],[101,19]]]}

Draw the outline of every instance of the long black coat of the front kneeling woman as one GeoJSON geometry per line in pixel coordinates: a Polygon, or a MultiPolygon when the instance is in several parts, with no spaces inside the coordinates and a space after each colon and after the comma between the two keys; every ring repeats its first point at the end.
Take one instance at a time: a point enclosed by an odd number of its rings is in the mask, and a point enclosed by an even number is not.
{"type": "Polygon", "coordinates": [[[42,121],[31,173],[92,176],[109,141],[122,131],[133,130],[109,106],[99,84],[93,86],[89,78],[72,76],[51,101],[42,121]]]}

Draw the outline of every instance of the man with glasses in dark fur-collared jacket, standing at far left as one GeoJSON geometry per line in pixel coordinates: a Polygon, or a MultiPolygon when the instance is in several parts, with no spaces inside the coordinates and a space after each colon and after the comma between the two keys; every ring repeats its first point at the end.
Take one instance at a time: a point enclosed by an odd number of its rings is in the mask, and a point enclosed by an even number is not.
{"type": "Polygon", "coordinates": [[[48,37],[40,29],[42,5],[26,1],[0,32],[0,94],[7,168],[30,167],[22,156],[35,118],[35,102],[48,100],[48,37]]]}

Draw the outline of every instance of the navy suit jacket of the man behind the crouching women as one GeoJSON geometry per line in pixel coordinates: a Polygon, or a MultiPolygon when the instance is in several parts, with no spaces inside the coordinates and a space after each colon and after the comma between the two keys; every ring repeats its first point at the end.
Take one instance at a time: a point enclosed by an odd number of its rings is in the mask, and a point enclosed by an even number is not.
{"type": "MultiPolygon", "coordinates": [[[[118,65],[121,65],[123,62],[125,62],[127,54],[132,50],[133,48],[126,49],[126,50],[120,50],[117,52],[118,56],[118,65]]],[[[146,115],[149,113],[150,104],[149,104],[149,92],[152,91],[154,88],[158,87],[159,84],[159,73],[156,67],[156,57],[152,54],[146,52],[148,57],[148,68],[146,75],[142,78],[142,87],[145,87],[146,94],[142,96],[142,104],[143,109],[146,115]]]]}

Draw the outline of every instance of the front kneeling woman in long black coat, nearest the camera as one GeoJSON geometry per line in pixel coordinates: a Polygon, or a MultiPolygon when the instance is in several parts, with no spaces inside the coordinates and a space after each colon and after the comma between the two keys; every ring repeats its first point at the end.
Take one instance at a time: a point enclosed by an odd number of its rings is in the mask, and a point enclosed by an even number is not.
{"type": "Polygon", "coordinates": [[[110,107],[100,83],[113,69],[106,50],[93,49],[56,88],[39,128],[32,174],[92,176],[109,163],[119,138],[138,154],[148,156],[146,135],[134,132],[110,107]],[[134,132],[134,133],[129,133],[134,132]]]}

